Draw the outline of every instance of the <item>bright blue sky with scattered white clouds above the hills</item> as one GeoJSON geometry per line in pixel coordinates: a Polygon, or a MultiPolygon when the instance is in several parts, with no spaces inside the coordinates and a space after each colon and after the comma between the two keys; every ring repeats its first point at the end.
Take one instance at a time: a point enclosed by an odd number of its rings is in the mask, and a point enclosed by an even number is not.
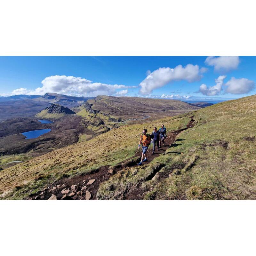
{"type": "Polygon", "coordinates": [[[0,95],[236,99],[256,93],[255,63],[250,56],[2,56],[0,95]]]}

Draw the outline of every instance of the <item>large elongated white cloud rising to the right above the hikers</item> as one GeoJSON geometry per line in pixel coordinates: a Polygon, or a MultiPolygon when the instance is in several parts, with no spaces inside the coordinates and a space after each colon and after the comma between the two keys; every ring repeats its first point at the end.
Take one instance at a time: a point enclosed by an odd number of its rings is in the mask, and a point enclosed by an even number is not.
{"type": "Polygon", "coordinates": [[[186,80],[195,82],[201,79],[198,65],[188,64],[184,68],[181,65],[175,68],[158,68],[140,83],[140,93],[150,94],[154,89],[160,88],[172,81],[186,80]]]}

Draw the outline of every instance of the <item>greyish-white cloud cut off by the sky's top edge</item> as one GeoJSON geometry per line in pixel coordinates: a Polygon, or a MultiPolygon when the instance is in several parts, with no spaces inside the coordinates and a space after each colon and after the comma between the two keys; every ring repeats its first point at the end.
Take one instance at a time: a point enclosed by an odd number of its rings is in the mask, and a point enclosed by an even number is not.
{"type": "Polygon", "coordinates": [[[238,67],[240,60],[238,56],[209,56],[204,61],[208,66],[214,66],[215,71],[229,71],[238,67]]]}

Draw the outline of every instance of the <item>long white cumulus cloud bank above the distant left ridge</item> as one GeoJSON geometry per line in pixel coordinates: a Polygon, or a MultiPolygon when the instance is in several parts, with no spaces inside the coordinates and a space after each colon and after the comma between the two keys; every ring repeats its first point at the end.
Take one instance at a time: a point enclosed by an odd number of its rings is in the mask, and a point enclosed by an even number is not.
{"type": "MultiPolygon", "coordinates": [[[[19,88],[12,91],[12,95],[44,95],[46,92],[66,94],[73,96],[89,96],[97,95],[114,95],[117,89],[130,88],[133,86],[125,86],[123,84],[102,84],[92,83],[92,81],[81,77],[74,76],[48,76],[41,82],[42,87],[35,90],[19,88]]],[[[125,90],[124,90],[125,91],[125,90]]]]}

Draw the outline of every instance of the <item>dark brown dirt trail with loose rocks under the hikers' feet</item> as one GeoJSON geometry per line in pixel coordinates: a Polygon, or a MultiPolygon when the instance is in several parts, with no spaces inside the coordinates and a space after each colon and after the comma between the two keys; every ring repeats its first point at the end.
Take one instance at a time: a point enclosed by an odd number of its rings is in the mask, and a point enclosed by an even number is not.
{"type": "MultiPolygon", "coordinates": [[[[155,154],[152,155],[152,150],[153,150],[153,146],[151,145],[150,148],[148,149],[148,161],[144,162],[142,164],[146,165],[149,164],[154,158],[160,156],[161,154],[164,154],[167,148],[170,148],[171,145],[175,142],[176,140],[176,136],[184,131],[187,130],[188,128],[191,128],[194,126],[194,122],[195,120],[193,119],[194,116],[191,116],[191,120],[190,122],[186,125],[186,128],[183,129],[178,129],[175,130],[173,132],[168,132],[168,135],[165,139],[165,146],[162,145],[162,147],[160,148],[160,150],[156,150],[155,154]]],[[[66,188],[66,189],[70,189],[70,193],[71,191],[71,186],[72,185],[77,185],[78,186],[78,190],[77,191],[84,191],[83,196],[72,196],[69,197],[67,196],[66,199],[69,200],[83,200],[85,199],[85,192],[86,190],[88,190],[91,193],[91,200],[96,200],[96,195],[97,195],[97,191],[99,189],[100,183],[108,180],[112,175],[114,175],[116,172],[122,170],[124,167],[131,167],[131,166],[135,166],[137,165],[137,163],[140,162],[140,156],[141,156],[142,151],[138,151],[135,156],[132,156],[128,159],[126,159],[123,162],[120,162],[118,164],[116,164],[115,166],[110,166],[110,165],[104,165],[102,167],[100,167],[99,169],[94,170],[92,173],[90,174],[84,174],[84,175],[76,175],[73,177],[67,177],[67,178],[62,178],[60,180],[55,181],[51,186],[49,186],[48,188],[44,189],[44,194],[40,195],[40,193],[42,191],[37,192],[36,194],[30,195],[28,198],[26,199],[37,199],[37,200],[47,200],[49,199],[53,194],[56,195],[57,199],[60,200],[63,196],[63,194],[61,193],[61,191],[66,188]],[[137,159],[134,157],[137,156],[137,159]],[[112,173],[111,173],[112,172],[112,173]],[[94,180],[95,181],[92,184],[87,184],[89,180],[94,180]],[[59,188],[58,188],[58,187],[59,188]],[[82,189],[84,186],[86,186],[87,188],[82,189]],[[52,188],[55,188],[54,191],[52,190],[52,188]]],[[[127,193],[127,195],[125,196],[125,199],[141,199],[140,196],[136,196],[138,194],[136,194],[136,190],[135,191],[130,191],[129,193],[127,193]]]]}

